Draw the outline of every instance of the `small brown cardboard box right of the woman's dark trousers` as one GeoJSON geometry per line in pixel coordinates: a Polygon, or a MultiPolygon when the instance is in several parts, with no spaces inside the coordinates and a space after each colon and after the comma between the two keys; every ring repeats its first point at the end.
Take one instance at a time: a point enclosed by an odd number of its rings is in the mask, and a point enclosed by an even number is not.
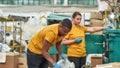
{"type": "Polygon", "coordinates": [[[92,68],[96,67],[96,65],[98,64],[102,64],[102,57],[100,56],[92,56],[91,57],[91,64],[92,64],[92,68]]]}

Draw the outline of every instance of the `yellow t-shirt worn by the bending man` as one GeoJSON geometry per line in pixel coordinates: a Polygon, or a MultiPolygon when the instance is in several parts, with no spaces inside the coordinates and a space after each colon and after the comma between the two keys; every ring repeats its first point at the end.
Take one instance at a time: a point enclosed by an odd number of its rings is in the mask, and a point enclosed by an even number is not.
{"type": "Polygon", "coordinates": [[[50,42],[51,46],[63,39],[63,36],[58,36],[58,24],[41,29],[30,39],[28,49],[35,54],[41,54],[44,39],[50,42]]]}

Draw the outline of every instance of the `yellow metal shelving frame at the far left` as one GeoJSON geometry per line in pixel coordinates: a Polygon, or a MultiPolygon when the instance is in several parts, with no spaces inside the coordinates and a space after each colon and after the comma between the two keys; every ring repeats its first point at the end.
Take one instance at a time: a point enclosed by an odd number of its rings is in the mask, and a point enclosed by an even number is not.
{"type": "Polygon", "coordinates": [[[5,25],[5,32],[4,32],[4,36],[5,36],[5,40],[4,40],[4,43],[6,43],[6,27],[7,27],[7,22],[12,22],[13,23],[13,25],[12,25],[12,28],[13,28],[13,30],[12,30],[12,36],[13,36],[13,41],[12,41],[12,46],[11,46],[11,48],[13,48],[13,49],[15,49],[15,48],[20,48],[20,51],[19,51],[19,53],[20,53],[20,56],[22,55],[22,51],[23,51],[23,46],[22,46],[22,21],[21,20],[19,20],[19,19],[14,19],[14,18],[4,18],[4,17],[0,17],[0,21],[1,22],[3,22],[4,23],[4,25],[5,25]],[[17,21],[17,22],[20,22],[20,27],[16,27],[15,26],[15,21],[17,21]],[[15,34],[14,34],[14,29],[15,28],[19,28],[20,29],[20,46],[15,46],[14,45],[14,43],[15,43],[15,34]]]}

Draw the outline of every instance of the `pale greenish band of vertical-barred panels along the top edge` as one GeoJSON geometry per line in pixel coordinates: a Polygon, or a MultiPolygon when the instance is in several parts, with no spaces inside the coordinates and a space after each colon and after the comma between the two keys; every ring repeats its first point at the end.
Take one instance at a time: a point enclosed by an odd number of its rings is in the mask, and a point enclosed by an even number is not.
{"type": "MultiPolygon", "coordinates": [[[[5,5],[63,5],[65,0],[0,0],[5,5]],[[56,3],[55,3],[56,1],[56,3]]],[[[68,6],[72,5],[97,5],[97,0],[67,0],[68,6]]]]}

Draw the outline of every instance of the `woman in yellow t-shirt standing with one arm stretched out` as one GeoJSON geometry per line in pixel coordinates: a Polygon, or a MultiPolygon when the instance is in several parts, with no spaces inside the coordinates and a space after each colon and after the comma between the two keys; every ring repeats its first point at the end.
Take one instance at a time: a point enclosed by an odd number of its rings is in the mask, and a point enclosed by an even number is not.
{"type": "Polygon", "coordinates": [[[85,49],[85,33],[96,32],[109,27],[86,27],[79,25],[82,20],[82,15],[79,12],[74,12],[72,15],[72,29],[65,36],[61,44],[68,46],[68,60],[74,62],[75,68],[81,68],[86,61],[85,49]]]}

